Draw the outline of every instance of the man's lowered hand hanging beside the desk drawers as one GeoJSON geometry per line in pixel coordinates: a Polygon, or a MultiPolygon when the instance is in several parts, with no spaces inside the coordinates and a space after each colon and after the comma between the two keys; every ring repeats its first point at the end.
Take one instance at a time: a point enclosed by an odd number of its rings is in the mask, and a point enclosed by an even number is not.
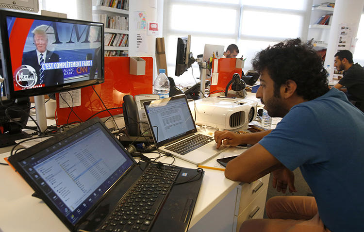
{"type": "Polygon", "coordinates": [[[273,174],[273,188],[277,188],[278,192],[285,193],[287,190],[289,192],[297,192],[295,187],[295,174],[286,167],[277,169],[272,172],[273,174]]]}

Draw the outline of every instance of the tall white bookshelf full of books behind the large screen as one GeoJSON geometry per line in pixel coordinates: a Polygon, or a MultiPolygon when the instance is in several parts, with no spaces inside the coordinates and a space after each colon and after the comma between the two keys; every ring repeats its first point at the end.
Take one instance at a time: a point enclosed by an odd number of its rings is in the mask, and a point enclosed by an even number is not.
{"type": "Polygon", "coordinates": [[[105,56],[129,56],[129,4],[128,0],[121,0],[127,5],[118,5],[120,0],[99,1],[92,6],[93,20],[104,23],[105,26],[105,56]],[[116,2],[115,4],[111,2],[116,2]],[[114,5],[105,6],[98,4],[114,5]],[[116,7],[123,7],[118,9],[116,7]]]}

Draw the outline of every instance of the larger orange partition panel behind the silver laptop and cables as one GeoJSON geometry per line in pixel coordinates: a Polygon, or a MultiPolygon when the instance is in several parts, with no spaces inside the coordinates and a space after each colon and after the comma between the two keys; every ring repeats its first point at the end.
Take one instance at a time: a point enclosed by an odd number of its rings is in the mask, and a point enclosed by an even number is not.
{"type": "MultiPolygon", "coordinates": [[[[153,58],[141,57],[146,61],[145,75],[129,74],[129,57],[105,57],[105,82],[94,85],[103,103],[112,115],[123,113],[122,103],[125,95],[151,94],[153,85],[153,58]]],[[[56,122],[64,125],[74,121],[85,121],[90,117],[110,116],[91,86],[81,89],[81,106],[59,108],[59,96],[56,96],[56,122]],[[76,115],[77,116],[76,116],[76,115]],[[69,116],[69,118],[68,118],[69,116]]]]}

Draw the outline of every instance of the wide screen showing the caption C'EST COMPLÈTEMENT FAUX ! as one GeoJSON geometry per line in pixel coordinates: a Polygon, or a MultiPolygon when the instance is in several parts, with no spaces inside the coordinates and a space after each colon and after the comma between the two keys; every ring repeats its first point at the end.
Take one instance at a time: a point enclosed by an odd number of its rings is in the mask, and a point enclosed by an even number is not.
{"type": "Polygon", "coordinates": [[[43,95],[104,81],[103,24],[0,11],[6,95],[43,95]]]}

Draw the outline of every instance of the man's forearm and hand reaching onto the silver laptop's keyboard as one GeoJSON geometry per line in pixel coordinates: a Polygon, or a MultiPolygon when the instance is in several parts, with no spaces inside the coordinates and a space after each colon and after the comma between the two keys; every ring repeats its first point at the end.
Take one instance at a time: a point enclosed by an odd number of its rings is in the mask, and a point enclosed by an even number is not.
{"type": "Polygon", "coordinates": [[[215,132],[216,147],[219,148],[221,144],[226,146],[237,146],[242,143],[256,144],[271,131],[272,130],[247,134],[238,134],[231,131],[217,131],[215,132]]]}

